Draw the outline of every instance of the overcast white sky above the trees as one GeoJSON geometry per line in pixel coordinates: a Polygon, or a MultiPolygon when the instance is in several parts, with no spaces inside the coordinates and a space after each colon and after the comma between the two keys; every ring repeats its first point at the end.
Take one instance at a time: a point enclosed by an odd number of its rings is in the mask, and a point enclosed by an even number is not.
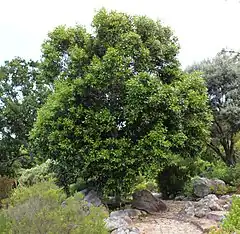
{"type": "Polygon", "coordinates": [[[15,56],[39,59],[48,31],[60,24],[90,26],[101,7],[160,19],[178,36],[183,67],[240,49],[238,0],[1,0],[0,64],[15,56]]]}

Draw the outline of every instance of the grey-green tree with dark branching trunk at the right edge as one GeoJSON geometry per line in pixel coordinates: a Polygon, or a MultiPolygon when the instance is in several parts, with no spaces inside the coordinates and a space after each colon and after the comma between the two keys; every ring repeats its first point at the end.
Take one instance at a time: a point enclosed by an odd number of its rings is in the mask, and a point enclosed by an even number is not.
{"type": "Polygon", "coordinates": [[[214,121],[212,150],[227,164],[236,163],[236,134],[240,131],[240,58],[222,51],[213,59],[189,67],[199,70],[206,80],[214,121]]]}

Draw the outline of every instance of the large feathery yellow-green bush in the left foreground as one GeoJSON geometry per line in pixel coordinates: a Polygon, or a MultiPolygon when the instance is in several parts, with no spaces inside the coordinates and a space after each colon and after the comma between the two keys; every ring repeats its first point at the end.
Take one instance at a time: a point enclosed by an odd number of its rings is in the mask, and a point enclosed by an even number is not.
{"type": "Polygon", "coordinates": [[[0,233],[107,233],[102,208],[89,207],[76,193],[66,199],[53,182],[14,191],[0,214],[0,233]]]}

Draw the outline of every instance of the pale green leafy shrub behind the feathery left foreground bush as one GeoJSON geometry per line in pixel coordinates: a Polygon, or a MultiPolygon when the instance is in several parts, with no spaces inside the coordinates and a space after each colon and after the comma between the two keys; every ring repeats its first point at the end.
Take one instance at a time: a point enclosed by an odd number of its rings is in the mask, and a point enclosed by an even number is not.
{"type": "Polygon", "coordinates": [[[18,179],[20,185],[31,186],[41,181],[49,180],[54,177],[54,174],[50,171],[51,160],[48,159],[46,162],[36,165],[30,169],[23,169],[18,179]]]}

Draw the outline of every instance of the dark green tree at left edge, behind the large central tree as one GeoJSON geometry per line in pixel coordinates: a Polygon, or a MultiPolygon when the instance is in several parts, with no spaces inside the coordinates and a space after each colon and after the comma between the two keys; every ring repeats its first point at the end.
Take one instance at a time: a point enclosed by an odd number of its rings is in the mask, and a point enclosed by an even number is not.
{"type": "Polygon", "coordinates": [[[12,175],[17,165],[32,161],[28,133],[48,93],[38,75],[38,63],[21,58],[0,67],[0,175],[12,175]]]}

